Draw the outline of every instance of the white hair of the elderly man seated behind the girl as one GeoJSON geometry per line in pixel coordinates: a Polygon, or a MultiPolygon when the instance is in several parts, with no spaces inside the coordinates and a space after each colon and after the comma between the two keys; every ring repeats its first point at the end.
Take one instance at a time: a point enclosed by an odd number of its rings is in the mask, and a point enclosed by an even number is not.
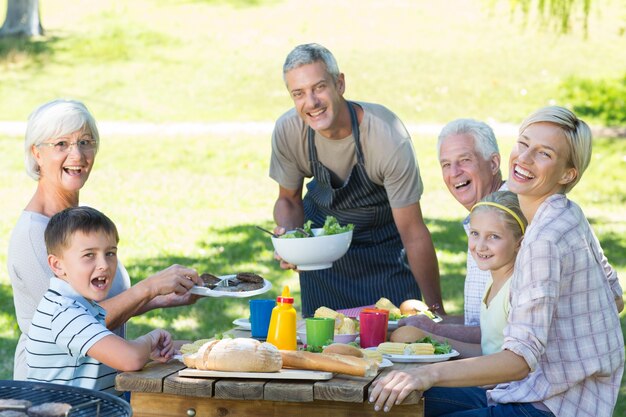
{"type": "Polygon", "coordinates": [[[474,138],[474,149],[483,156],[485,161],[491,159],[494,153],[500,154],[496,135],[487,123],[474,119],[456,119],[446,124],[439,133],[437,158],[439,158],[441,144],[450,135],[470,135],[474,138]]]}

